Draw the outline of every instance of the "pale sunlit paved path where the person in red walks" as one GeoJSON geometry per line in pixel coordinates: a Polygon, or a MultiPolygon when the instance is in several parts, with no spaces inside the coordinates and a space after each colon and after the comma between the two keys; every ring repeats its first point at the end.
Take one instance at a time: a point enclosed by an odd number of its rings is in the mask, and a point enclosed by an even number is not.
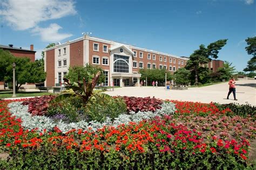
{"type": "Polygon", "coordinates": [[[212,86],[199,88],[188,88],[188,90],[165,90],[164,87],[123,87],[107,91],[111,96],[135,96],[135,97],[156,97],[161,99],[170,99],[178,101],[192,101],[201,103],[239,103],[256,105],[256,80],[236,81],[236,91],[238,101],[233,100],[233,94],[230,100],[226,100],[228,93],[228,83],[219,83],[212,86]]]}

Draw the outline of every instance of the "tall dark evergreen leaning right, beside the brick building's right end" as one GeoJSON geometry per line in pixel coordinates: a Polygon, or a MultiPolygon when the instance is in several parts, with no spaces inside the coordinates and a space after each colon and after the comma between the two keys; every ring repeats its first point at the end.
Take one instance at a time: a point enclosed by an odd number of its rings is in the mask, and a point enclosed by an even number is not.
{"type": "Polygon", "coordinates": [[[201,67],[200,65],[210,62],[212,60],[211,58],[217,59],[219,50],[226,45],[226,42],[227,39],[218,40],[212,42],[207,47],[201,44],[199,49],[190,55],[190,60],[187,61],[186,69],[194,72],[194,81],[196,85],[198,85],[198,70],[201,67]]]}

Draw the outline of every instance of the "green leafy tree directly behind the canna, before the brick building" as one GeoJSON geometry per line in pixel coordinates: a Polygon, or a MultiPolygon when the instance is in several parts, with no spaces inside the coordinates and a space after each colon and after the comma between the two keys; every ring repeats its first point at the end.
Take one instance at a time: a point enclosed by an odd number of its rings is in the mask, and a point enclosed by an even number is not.
{"type": "Polygon", "coordinates": [[[86,82],[92,79],[94,75],[100,72],[99,76],[99,83],[105,81],[105,76],[103,74],[103,69],[98,66],[92,66],[87,64],[86,66],[74,66],[69,68],[69,73],[65,76],[67,79],[70,80],[71,83],[73,82],[83,82],[83,77],[85,78],[86,82]]]}

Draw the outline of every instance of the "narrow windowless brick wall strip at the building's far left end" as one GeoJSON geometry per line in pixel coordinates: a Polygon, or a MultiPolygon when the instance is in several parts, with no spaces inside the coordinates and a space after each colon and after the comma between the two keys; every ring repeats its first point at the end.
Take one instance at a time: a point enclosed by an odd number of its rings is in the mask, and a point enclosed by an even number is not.
{"type": "Polygon", "coordinates": [[[46,87],[55,86],[55,49],[46,51],[46,87]]]}

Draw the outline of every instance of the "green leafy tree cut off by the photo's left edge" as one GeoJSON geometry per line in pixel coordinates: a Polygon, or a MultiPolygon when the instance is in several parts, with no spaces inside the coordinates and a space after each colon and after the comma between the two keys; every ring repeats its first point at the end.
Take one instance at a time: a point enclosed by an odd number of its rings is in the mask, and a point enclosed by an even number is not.
{"type": "Polygon", "coordinates": [[[4,84],[9,80],[10,74],[12,73],[10,73],[7,68],[8,66],[11,66],[13,62],[14,55],[12,55],[9,51],[0,49],[0,81],[3,81],[4,84]]]}

